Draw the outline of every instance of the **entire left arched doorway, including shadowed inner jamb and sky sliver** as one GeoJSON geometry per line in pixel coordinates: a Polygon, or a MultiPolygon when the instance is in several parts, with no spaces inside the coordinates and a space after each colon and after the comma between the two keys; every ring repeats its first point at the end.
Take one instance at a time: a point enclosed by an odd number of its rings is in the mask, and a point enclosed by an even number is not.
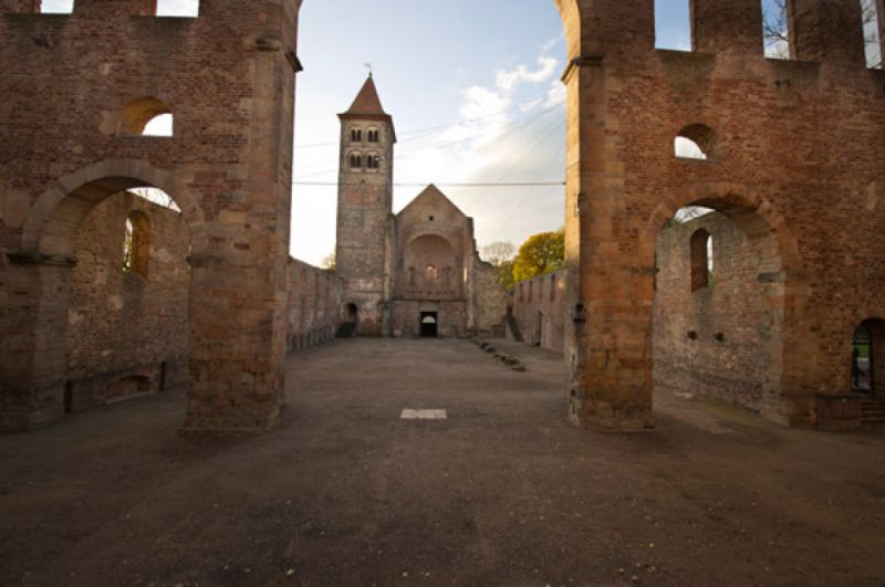
{"type": "Polygon", "coordinates": [[[115,167],[132,169],[106,161],[61,178],[9,254],[33,295],[9,332],[45,340],[4,349],[3,408],[21,407],[15,428],[187,381],[188,300],[199,296],[189,293],[186,260],[201,212],[170,174],[142,164],[142,177],[113,175],[115,167]]]}

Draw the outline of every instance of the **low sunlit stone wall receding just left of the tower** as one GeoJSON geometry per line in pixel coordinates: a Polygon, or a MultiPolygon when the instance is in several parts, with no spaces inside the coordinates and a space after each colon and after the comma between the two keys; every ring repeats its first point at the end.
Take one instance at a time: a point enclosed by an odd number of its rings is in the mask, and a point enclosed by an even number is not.
{"type": "Polygon", "coordinates": [[[310,348],[335,337],[341,324],[343,285],[334,271],[289,260],[287,347],[310,348]]]}

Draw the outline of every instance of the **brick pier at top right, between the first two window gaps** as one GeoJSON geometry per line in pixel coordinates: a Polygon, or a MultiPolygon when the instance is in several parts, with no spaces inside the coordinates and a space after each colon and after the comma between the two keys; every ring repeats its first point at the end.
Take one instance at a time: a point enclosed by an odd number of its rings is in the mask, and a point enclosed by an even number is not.
{"type": "Polygon", "coordinates": [[[761,55],[759,0],[691,0],[691,46],[702,53],[761,55]]]}

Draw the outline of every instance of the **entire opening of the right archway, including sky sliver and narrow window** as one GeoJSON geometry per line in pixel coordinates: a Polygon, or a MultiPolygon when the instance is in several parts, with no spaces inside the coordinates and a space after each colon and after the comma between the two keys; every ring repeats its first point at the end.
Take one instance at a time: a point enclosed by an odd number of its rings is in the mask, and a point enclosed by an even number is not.
{"type": "Polygon", "coordinates": [[[751,205],[699,201],[664,224],[655,262],[655,392],[761,411],[783,363],[784,283],[768,222],[751,205]]]}

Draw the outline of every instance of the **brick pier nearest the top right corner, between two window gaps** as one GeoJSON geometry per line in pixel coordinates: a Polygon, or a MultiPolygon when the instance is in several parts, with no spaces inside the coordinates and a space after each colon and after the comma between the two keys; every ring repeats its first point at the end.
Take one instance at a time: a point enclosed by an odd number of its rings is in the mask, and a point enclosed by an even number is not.
{"type": "Polygon", "coordinates": [[[864,65],[860,1],[790,0],[790,51],[799,61],[864,65]]]}

